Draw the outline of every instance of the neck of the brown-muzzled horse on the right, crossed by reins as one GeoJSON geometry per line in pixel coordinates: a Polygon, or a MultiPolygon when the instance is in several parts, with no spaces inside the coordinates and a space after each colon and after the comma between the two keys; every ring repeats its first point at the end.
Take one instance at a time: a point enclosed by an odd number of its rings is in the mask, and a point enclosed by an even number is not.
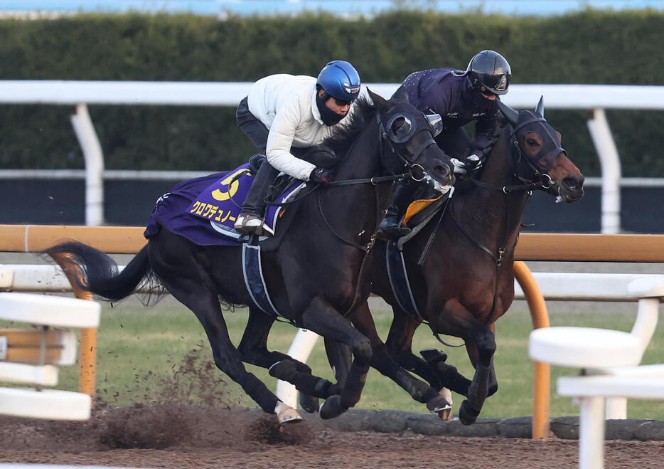
{"type": "MultiPolygon", "coordinates": [[[[487,157],[480,181],[497,187],[515,184],[509,158],[509,149],[500,135],[487,157]]],[[[462,203],[458,204],[455,214],[468,234],[490,249],[502,247],[509,251],[518,236],[528,193],[505,194],[496,189],[476,187],[460,198],[462,203]]]]}

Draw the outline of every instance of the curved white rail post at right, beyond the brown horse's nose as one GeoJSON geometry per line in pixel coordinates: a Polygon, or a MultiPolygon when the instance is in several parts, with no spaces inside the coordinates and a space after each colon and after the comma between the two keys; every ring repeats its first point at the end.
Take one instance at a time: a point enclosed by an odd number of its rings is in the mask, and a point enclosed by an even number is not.
{"type": "Polygon", "coordinates": [[[618,149],[611,136],[604,109],[596,107],[588,130],[601,164],[601,233],[620,231],[620,179],[621,167],[618,149]]]}

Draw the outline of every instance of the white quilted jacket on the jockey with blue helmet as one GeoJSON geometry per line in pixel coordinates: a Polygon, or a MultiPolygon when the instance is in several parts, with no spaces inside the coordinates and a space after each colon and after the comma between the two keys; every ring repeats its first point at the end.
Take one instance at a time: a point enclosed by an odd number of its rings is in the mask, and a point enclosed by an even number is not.
{"type": "MultiPolygon", "coordinates": [[[[294,157],[291,147],[313,147],[333,129],[323,124],[316,107],[316,78],[287,74],[261,78],[252,85],[247,104],[269,129],[267,161],[281,172],[308,181],[316,167],[294,157]]],[[[340,123],[347,121],[348,116],[340,123]]]]}

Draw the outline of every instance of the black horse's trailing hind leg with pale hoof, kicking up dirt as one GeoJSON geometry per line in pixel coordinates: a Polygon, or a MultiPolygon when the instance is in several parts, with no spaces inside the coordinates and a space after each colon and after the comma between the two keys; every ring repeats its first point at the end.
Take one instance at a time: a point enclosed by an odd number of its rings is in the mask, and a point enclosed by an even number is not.
{"type": "MultiPolygon", "coordinates": [[[[153,246],[151,246],[153,247],[153,246]]],[[[150,263],[166,289],[178,301],[188,307],[198,317],[208,335],[215,364],[267,413],[276,413],[279,423],[298,421],[301,417],[294,409],[279,401],[256,376],[245,369],[240,353],[233,346],[226,323],[223,319],[217,293],[210,278],[205,275],[203,266],[196,265],[196,253],[186,252],[186,246],[179,250],[164,250],[155,247],[149,251],[150,263]],[[187,262],[183,260],[187,258],[187,262]]]]}

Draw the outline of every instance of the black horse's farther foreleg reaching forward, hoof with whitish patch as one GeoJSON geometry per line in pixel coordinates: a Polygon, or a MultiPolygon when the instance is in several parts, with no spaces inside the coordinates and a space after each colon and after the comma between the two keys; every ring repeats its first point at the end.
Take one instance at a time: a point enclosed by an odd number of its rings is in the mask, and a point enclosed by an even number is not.
{"type": "Polygon", "coordinates": [[[434,413],[446,413],[451,409],[451,403],[435,389],[412,376],[404,368],[400,367],[392,357],[390,357],[387,347],[378,337],[375,322],[371,317],[368,302],[364,302],[353,312],[353,324],[360,332],[365,334],[371,343],[373,357],[371,366],[380,371],[380,373],[395,381],[402,389],[412,396],[412,398],[423,404],[427,404],[427,409],[434,413]]]}

